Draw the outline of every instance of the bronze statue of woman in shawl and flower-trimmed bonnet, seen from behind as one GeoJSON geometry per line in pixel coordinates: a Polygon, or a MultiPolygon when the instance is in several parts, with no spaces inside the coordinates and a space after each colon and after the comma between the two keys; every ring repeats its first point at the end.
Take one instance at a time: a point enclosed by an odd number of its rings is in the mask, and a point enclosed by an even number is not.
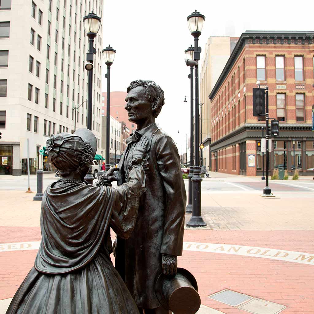
{"type": "Polygon", "coordinates": [[[60,179],[47,187],[41,205],[41,245],[7,314],[138,314],[110,254],[110,227],[122,238],[133,231],[138,198],[145,191],[147,138],[128,165],[128,181],[111,187],[112,169],[96,186],[84,176],[95,157],[95,135],[87,129],[59,133],[46,150],[60,179]]]}

